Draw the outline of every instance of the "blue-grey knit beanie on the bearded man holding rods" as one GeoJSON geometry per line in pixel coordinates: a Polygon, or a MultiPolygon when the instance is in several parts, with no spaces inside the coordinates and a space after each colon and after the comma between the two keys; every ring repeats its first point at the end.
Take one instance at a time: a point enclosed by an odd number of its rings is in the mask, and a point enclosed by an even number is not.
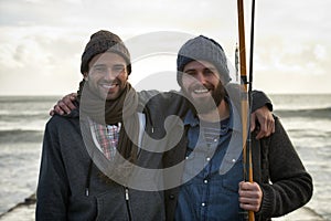
{"type": "Polygon", "coordinates": [[[221,80],[224,81],[224,84],[227,84],[231,81],[226,56],[222,46],[213,39],[200,35],[189,40],[178,52],[177,81],[180,86],[182,86],[182,72],[184,66],[188,63],[197,60],[207,61],[214,64],[220,72],[221,80]]]}

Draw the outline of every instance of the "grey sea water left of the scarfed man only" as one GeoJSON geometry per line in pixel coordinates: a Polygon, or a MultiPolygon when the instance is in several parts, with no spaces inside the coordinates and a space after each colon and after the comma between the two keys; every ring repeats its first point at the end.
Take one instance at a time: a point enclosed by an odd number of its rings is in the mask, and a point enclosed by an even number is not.
{"type": "Polygon", "coordinates": [[[60,97],[0,97],[0,214],[35,192],[43,130],[60,97]]]}

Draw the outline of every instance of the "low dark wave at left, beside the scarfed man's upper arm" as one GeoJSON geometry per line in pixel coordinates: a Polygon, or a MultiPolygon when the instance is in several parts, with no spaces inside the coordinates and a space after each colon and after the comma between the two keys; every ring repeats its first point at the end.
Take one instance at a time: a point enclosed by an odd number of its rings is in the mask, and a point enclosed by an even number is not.
{"type": "Polygon", "coordinates": [[[0,130],[0,143],[41,143],[43,130],[0,130]]]}

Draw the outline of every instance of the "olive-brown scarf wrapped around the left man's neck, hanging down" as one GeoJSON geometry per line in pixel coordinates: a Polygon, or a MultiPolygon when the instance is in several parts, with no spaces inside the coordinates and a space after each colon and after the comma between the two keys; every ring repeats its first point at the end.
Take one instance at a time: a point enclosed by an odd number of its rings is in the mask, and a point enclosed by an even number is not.
{"type": "Polygon", "coordinates": [[[121,123],[122,128],[119,131],[117,149],[125,159],[135,162],[138,152],[135,144],[138,144],[139,120],[137,114],[138,94],[134,87],[127,83],[119,97],[105,101],[92,91],[83,80],[79,83],[77,94],[79,112],[85,116],[105,126],[106,124],[121,123]]]}

